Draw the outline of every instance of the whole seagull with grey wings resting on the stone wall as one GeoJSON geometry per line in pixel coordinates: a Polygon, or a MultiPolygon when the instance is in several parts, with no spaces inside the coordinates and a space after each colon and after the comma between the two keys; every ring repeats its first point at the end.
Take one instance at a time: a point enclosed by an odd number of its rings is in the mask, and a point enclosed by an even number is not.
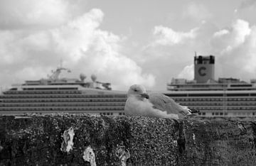
{"type": "Polygon", "coordinates": [[[173,99],[164,94],[147,94],[146,89],[139,84],[134,84],[129,88],[124,114],[174,119],[193,115],[187,106],[176,104],[173,99]]]}

